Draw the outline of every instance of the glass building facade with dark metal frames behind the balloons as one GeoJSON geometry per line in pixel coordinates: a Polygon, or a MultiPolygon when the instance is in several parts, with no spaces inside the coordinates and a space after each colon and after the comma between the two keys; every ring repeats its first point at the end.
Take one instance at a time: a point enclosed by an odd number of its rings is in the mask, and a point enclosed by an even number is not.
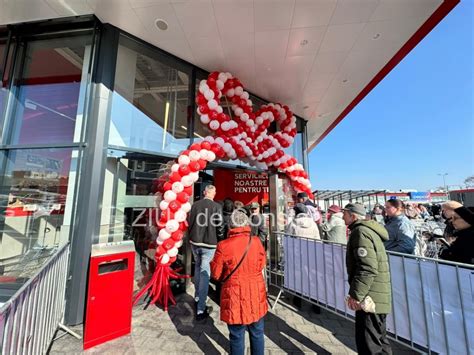
{"type": "MultiPolygon", "coordinates": [[[[65,321],[81,323],[92,244],[132,239],[146,258],[153,181],[210,134],[194,103],[208,72],[94,16],[1,28],[0,60],[0,275],[19,287],[70,243],[65,321]]],[[[287,152],[306,166],[305,123],[287,152]]],[[[211,164],[195,196],[216,168],[255,171],[211,164]]],[[[266,173],[277,198],[284,180],[266,173]]],[[[185,248],[181,257],[190,263],[185,248]]]]}

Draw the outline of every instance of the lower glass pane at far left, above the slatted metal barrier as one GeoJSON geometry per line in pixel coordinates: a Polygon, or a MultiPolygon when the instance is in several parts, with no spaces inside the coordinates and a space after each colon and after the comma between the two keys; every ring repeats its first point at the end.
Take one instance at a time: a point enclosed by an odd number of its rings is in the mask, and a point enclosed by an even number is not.
{"type": "Polygon", "coordinates": [[[28,278],[69,239],[78,152],[1,154],[0,274],[28,278]]]}

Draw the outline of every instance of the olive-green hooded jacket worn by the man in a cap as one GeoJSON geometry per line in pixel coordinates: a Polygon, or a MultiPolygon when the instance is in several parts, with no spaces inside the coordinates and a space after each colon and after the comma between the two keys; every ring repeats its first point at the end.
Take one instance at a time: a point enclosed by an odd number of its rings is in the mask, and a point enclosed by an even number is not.
{"type": "Polygon", "coordinates": [[[375,221],[358,220],[349,226],[346,266],[349,276],[349,295],[361,302],[370,296],[378,314],[392,310],[392,292],[388,257],[383,242],[387,230],[375,221]]]}

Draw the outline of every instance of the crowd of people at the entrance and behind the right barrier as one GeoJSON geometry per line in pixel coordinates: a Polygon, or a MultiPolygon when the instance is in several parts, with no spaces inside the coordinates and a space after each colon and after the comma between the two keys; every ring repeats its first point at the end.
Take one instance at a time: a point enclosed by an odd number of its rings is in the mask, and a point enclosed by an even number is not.
{"type": "MultiPolygon", "coordinates": [[[[252,354],[264,353],[264,316],[268,311],[264,269],[268,227],[257,202],[248,206],[230,199],[214,201],[208,185],[204,198],[189,213],[189,241],[195,260],[195,310],[198,321],[212,312],[206,305],[210,278],[221,287],[220,318],[229,329],[232,354],[243,354],[245,332],[252,354]],[[206,223],[200,222],[205,217],[206,223]],[[217,223],[213,219],[217,216],[217,223]]],[[[429,219],[423,205],[391,199],[367,213],[362,204],[332,205],[323,217],[305,193],[297,195],[286,233],[347,244],[348,307],[356,314],[359,353],[391,353],[386,316],[391,310],[391,285],[386,251],[414,254],[414,218],[429,219]]],[[[474,264],[474,210],[449,201],[439,212],[454,237],[440,257],[474,264]]]]}

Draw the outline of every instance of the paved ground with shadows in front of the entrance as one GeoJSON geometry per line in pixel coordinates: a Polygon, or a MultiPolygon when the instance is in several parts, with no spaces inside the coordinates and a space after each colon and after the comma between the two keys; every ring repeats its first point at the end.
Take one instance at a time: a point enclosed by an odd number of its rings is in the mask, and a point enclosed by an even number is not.
{"type": "MultiPolygon", "coordinates": [[[[191,290],[188,292],[192,292],[191,290]]],[[[157,307],[137,306],[133,310],[131,335],[86,351],[86,354],[222,354],[228,352],[228,330],[219,320],[218,306],[212,319],[196,323],[193,298],[178,297],[178,305],[166,313],[157,307]]],[[[82,334],[82,327],[75,327],[82,334]]],[[[327,311],[312,312],[304,304],[300,311],[283,298],[265,318],[266,354],[355,354],[354,324],[327,311]]],[[[57,336],[62,334],[58,332],[57,336]]],[[[248,337],[247,353],[250,354],[248,337]]],[[[394,354],[415,354],[393,344],[394,354]]],[[[50,354],[80,354],[82,341],[69,335],[57,339],[50,354]]]]}

